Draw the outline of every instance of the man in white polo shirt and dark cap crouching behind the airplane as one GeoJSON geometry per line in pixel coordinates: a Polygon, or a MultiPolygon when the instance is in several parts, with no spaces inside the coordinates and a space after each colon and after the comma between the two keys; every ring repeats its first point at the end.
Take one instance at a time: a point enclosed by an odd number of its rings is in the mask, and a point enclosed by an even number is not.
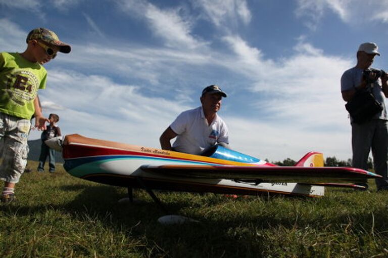
{"type": "Polygon", "coordinates": [[[226,94],[217,85],[206,87],[200,98],[202,106],[182,112],[163,132],[162,149],[198,155],[215,144],[227,147],[228,128],[217,115],[222,97],[226,98],[226,94]],[[175,137],[171,146],[170,141],[175,137]]]}

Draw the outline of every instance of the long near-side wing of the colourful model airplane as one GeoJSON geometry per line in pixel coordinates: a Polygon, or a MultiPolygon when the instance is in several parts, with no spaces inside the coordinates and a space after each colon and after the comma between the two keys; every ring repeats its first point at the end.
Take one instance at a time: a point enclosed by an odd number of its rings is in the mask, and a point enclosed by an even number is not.
{"type": "Polygon", "coordinates": [[[337,183],[363,182],[381,176],[353,167],[142,165],[141,170],[189,178],[257,180],[261,182],[337,183]]]}

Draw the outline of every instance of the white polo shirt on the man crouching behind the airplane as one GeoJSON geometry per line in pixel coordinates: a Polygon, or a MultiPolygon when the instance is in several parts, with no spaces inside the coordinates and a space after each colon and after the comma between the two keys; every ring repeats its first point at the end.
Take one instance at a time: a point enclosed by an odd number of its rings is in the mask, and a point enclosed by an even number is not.
{"type": "Polygon", "coordinates": [[[179,152],[198,155],[216,143],[229,144],[225,122],[216,114],[209,125],[202,106],[180,113],[170,128],[178,135],[172,147],[179,152]]]}

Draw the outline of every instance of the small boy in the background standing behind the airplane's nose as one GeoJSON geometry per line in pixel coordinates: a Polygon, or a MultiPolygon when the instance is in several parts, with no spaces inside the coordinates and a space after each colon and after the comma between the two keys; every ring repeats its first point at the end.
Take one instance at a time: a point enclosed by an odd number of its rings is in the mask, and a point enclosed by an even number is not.
{"type": "Polygon", "coordinates": [[[44,130],[40,136],[42,140],[42,145],[40,148],[40,156],[39,156],[39,165],[38,172],[44,171],[44,163],[46,162],[47,155],[49,156],[49,171],[51,173],[55,172],[55,150],[51,149],[47,146],[44,141],[52,139],[54,137],[62,136],[61,129],[57,126],[57,122],[59,122],[59,116],[57,114],[49,115],[50,125],[46,126],[46,130],[44,130]]]}

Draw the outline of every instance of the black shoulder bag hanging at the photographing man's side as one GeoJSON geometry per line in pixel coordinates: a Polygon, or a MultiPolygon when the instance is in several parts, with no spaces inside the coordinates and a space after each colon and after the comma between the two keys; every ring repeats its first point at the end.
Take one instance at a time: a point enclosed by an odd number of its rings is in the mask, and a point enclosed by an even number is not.
{"type": "Polygon", "coordinates": [[[355,123],[369,121],[383,109],[381,104],[369,91],[356,91],[353,99],[345,105],[345,108],[355,123]]]}

